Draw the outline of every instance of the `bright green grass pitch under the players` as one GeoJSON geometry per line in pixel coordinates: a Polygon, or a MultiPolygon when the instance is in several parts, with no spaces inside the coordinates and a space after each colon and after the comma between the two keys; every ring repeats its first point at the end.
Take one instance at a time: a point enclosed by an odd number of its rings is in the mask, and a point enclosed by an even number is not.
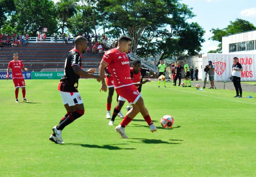
{"type": "Polygon", "coordinates": [[[29,103],[15,103],[12,80],[0,80],[0,176],[256,176],[256,93],[233,98],[230,90],[146,83],[142,96],[158,130],[151,133],[139,114],[122,139],[105,119],[107,93],[96,80],[81,79],[85,115],[57,145],[49,136],[66,113],[59,81],[25,81],[29,103]],[[160,124],[168,114],[171,130],[160,124]]]}

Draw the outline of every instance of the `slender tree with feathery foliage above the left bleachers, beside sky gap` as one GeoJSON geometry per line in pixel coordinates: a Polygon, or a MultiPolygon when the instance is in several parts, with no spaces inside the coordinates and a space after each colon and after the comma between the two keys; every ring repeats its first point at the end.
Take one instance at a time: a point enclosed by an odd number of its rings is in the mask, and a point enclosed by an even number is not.
{"type": "Polygon", "coordinates": [[[55,4],[58,19],[61,22],[61,30],[64,32],[64,28],[69,26],[67,24],[68,18],[71,18],[76,14],[76,0],[60,0],[55,4]]]}

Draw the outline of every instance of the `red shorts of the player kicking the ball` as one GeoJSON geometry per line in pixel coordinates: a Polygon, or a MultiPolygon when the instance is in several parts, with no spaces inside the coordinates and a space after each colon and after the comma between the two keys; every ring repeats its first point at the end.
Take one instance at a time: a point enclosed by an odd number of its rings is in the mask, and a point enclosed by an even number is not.
{"type": "Polygon", "coordinates": [[[118,87],[115,91],[119,96],[125,98],[130,105],[135,104],[141,97],[141,94],[135,84],[118,87]]]}

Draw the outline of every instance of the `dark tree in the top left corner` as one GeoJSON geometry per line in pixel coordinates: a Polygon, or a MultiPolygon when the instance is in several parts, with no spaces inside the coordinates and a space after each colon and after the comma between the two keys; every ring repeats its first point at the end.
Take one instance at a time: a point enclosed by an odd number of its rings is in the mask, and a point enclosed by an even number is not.
{"type": "Polygon", "coordinates": [[[13,15],[16,8],[13,0],[0,0],[0,33],[1,28],[4,25],[7,16],[13,15]]]}

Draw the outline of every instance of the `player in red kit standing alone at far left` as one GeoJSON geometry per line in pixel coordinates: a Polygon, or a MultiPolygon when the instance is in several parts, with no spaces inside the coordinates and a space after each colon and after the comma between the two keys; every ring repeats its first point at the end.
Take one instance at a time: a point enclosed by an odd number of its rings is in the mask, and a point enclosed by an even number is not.
{"type": "Polygon", "coordinates": [[[22,102],[27,103],[26,100],[26,89],[25,89],[25,81],[21,72],[21,69],[24,71],[28,71],[27,68],[23,65],[22,61],[18,60],[18,53],[13,53],[13,60],[11,60],[8,64],[6,79],[9,80],[9,71],[12,69],[12,81],[15,87],[15,102],[18,102],[18,94],[19,87],[22,89],[23,99],[22,102]]]}

